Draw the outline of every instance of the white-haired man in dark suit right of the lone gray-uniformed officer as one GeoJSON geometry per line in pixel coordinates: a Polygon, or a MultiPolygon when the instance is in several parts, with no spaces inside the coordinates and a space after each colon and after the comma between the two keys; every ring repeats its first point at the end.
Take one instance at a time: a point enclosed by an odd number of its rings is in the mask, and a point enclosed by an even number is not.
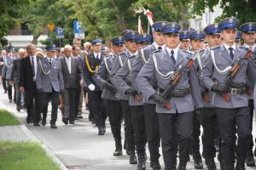
{"type": "Polygon", "coordinates": [[[74,124],[75,120],[75,99],[76,91],[80,88],[82,81],[82,67],[79,60],[72,57],[72,47],[64,47],[64,57],[60,59],[63,75],[64,90],[62,96],[64,100],[64,110],[62,122],[74,124]]]}

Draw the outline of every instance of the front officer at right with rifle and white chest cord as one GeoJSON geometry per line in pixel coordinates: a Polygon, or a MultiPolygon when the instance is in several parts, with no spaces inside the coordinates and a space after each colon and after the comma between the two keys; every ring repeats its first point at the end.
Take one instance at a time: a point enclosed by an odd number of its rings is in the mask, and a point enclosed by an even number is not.
{"type": "Polygon", "coordinates": [[[204,84],[208,90],[214,92],[212,105],[222,139],[224,165],[228,170],[235,169],[235,161],[236,169],[245,169],[250,142],[250,114],[245,84],[247,78],[254,83],[256,74],[253,60],[248,59],[250,55],[247,54],[247,49],[236,46],[238,26],[239,21],[236,18],[227,18],[218,24],[223,44],[211,48],[202,69],[204,84]],[[233,70],[234,65],[240,66],[236,72],[233,70]],[[236,133],[238,140],[235,148],[236,133]]]}

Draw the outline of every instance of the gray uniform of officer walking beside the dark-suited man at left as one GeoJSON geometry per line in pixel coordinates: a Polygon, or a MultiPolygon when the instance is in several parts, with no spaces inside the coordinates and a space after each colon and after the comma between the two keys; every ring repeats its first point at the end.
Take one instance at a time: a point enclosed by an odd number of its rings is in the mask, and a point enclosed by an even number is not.
{"type": "Polygon", "coordinates": [[[55,125],[59,105],[59,95],[64,89],[64,82],[61,71],[61,62],[56,59],[40,59],[38,61],[37,88],[41,94],[42,108],[48,105],[51,100],[50,124],[55,125]]]}

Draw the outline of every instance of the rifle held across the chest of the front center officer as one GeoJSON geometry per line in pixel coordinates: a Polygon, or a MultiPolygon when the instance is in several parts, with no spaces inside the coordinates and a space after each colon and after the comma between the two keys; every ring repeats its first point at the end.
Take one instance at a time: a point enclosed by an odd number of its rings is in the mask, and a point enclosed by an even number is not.
{"type": "MultiPolygon", "coordinates": [[[[172,92],[172,90],[175,88],[175,86],[177,85],[177,82],[180,80],[180,78],[183,76],[183,72],[186,71],[187,69],[191,68],[192,65],[195,62],[195,57],[191,57],[187,64],[184,65],[183,67],[181,67],[177,72],[175,72],[172,76],[171,81],[168,83],[168,86],[166,87],[165,91],[161,94],[161,97],[163,99],[167,99],[168,95],[172,92]]],[[[166,103],[166,109],[170,110],[172,109],[172,105],[170,103],[168,103],[167,101],[166,103]]]]}

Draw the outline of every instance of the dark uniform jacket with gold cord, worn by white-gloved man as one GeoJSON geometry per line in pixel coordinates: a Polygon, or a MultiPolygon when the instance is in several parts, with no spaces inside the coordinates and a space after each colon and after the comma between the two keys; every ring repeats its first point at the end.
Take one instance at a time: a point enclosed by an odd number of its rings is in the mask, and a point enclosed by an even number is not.
{"type": "MultiPolygon", "coordinates": [[[[88,59],[88,64],[84,66],[84,81],[86,82],[87,86],[89,86],[90,84],[95,85],[95,91],[101,91],[101,88],[99,88],[96,84],[96,82],[94,81],[93,77],[95,75],[95,72],[90,72],[90,69],[92,71],[96,70],[96,67],[98,67],[99,65],[101,65],[102,63],[102,59],[103,59],[104,54],[101,53],[101,59],[99,59],[98,61],[96,60],[96,56],[94,56],[93,53],[88,54],[87,55],[87,59],[88,59]],[[88,68],[88,66],[90,68],[88,68]]],[[[86,60],[86,56],[85,56],[85,60],[86,60]]]]}

